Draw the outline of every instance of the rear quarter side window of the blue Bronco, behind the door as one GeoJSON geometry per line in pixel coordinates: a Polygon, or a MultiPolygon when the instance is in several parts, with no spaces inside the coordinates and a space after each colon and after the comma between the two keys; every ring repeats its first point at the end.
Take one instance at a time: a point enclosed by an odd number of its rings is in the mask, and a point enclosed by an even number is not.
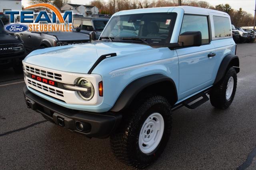
{"type": "Polygon", "coordinates": [[[229,18],[213,16],[215,38],[231,36],[229,18]]]}

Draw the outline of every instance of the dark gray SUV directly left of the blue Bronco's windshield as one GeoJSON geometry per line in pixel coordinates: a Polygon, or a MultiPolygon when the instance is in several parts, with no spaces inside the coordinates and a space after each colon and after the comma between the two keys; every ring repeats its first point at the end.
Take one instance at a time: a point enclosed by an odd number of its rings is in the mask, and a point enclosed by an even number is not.
{"type": "MultiPolygon", "coordinates": [[[[95,31],[96,39],[100,37],[100,34],[104,30],[109,18],[88,18],[88,17],[74,17],[73,28],[77,30],[80,28],[80,32],[84,34],[90,34],[95,31]]],[[[78,30],[77,30],[78,31],[78,30]]]]}

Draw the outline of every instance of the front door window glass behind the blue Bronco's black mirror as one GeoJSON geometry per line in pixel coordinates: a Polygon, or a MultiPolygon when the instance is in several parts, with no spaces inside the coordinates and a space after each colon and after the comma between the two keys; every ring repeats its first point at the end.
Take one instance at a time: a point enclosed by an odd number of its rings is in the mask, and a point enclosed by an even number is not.
{"type": "Polygon", "coordinates": [[[184,15],[180,34],[187,31],[200,31],[202,34],[202,44],[209,43],[207,16],[184,15]]]}

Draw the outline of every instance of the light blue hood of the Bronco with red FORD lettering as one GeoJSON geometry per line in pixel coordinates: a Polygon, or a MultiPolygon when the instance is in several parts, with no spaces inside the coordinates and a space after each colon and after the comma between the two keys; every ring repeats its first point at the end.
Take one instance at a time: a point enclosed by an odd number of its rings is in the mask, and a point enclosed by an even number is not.
{"type": "Polygon", "coordinates": [[[154,48],[138,43],[92,42],[38,49],[32,51],[24,61],[60,71],[88,73],[101,55],[116,53],[117,57],[120,57],[150,49],[154,48]]]}

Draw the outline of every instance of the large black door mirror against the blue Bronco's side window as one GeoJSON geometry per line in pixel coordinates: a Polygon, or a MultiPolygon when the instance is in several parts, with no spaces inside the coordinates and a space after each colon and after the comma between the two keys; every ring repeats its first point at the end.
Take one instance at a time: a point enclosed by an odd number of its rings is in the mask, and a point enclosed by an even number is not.
{"type": "Polygon", "coordinates": [[[202,45],[202,34],[200,31],[188,31],[180,34],[178,42],[182,47],[202,45]]]}

